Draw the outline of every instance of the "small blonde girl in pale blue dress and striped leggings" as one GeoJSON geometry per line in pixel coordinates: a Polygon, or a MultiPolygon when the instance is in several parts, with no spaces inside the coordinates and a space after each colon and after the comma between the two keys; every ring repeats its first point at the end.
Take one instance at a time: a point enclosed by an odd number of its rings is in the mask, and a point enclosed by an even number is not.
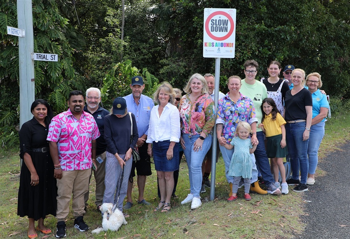
{"type": "Polygon", "coordinates": [[[238,184],[242,178],[244,180],[244,198],[247,201],[252,200],[249,195],[250,178],[252,176],[250,154],[254,153],[257,146],[253,146],[250,138],[248,138],[250,133],[252,133],[250,125],[245,121],[240,121],[236,126],[235,137],[233,137],[230,144],[225,143],[224,145],[227,149],[235,147],[229,168],[229,175],[233,176],[232,196],[227,199],[229,202],[235,201],[238,198],[238,184]]]}

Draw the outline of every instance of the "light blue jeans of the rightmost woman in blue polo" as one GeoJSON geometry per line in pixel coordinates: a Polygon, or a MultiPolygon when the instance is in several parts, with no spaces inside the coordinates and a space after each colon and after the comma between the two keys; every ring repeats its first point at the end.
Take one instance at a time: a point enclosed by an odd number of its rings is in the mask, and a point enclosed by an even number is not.
{"type": "Polygon", "coordinates": [[[309,156],[309,174],[315,174],[318,162],[318,148],[324,136],[324,122],[311,126],[307,154],[309,156]]]}

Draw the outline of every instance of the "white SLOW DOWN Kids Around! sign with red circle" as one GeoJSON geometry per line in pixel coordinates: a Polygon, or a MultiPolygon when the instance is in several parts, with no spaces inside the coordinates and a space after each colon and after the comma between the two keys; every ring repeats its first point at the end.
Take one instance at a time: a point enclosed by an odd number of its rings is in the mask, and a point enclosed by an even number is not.
{"type": "Polygon", "coordinates": [[[234,58],[236,9],[205,8],[203,57],[234,58]]]}

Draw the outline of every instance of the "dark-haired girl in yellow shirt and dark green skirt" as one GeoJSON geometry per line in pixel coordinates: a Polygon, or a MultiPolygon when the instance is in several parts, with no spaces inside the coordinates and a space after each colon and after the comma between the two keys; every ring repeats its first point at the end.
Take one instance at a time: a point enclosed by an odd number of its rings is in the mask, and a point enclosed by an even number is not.
{"type": "Polygon", "coordinates": [[[281,189],[282,194],[288,194],[288,184],[286,183],[286,169],[283,165],[283,158],[286,157],[286,121],[280,114],[275,101],[272,98],[265,98],[261,105],[262,120],[258,125],[262,132],[266,134],[266,153],[273,164],[273,175],[276,187],[281,189]],[[278,172],[280,171],[282,184],[278,182],[278,172]]]}

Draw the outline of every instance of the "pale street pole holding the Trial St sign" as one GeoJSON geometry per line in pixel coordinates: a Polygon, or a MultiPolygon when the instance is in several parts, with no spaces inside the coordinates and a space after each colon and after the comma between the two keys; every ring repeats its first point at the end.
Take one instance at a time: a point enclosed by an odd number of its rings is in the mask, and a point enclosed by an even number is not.
{"type": "Polygon", "coordinates": [[[25,31],[25,37],[19,37],[19,73],[20,73],[20,127],[33,116],[30,106],[34,101],[34,52],[33,14],[31,1],[17,0],[18,28],[25,31]]]}

